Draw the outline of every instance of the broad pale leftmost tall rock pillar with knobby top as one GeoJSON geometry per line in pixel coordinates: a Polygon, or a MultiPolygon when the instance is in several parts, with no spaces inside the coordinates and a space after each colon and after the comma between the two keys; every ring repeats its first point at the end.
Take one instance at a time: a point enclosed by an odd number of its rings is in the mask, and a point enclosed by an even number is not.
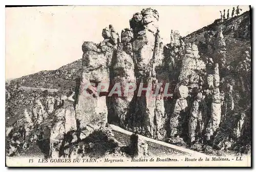
{"type": "Polygon", "coordinates": [[[98,94],[108,91],[110,66],[119,36],[112,25],[102,30],[102,36],[104,40],[99,45],[93,42],[82,45],[82,74],[76,102],[76,119],[82,130],[87,130],[90,123],[104,126],[108,120],[106,98],[98,94]]]}

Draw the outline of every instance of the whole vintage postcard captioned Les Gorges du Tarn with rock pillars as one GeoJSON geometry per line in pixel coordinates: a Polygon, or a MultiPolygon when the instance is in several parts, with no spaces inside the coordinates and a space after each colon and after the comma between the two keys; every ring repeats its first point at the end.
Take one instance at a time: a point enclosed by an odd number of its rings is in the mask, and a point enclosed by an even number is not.
{"type": "Polygon", "coordinates": [[[6,7],[6,166],[250,167],[250,6],[6,7]]]}

